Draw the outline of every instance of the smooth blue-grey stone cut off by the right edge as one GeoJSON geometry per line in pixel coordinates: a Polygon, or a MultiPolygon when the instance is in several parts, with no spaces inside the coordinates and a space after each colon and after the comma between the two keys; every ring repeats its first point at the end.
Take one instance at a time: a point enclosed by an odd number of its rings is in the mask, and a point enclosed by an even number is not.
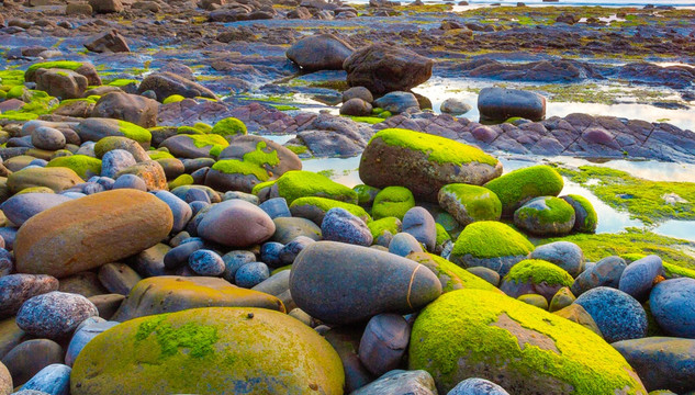
{"type": "Polygon", "coordinates": [[[651,291],[649,306],[657,324],[669,335],[695,339],[695,280],[662,281],[651,291]]]}

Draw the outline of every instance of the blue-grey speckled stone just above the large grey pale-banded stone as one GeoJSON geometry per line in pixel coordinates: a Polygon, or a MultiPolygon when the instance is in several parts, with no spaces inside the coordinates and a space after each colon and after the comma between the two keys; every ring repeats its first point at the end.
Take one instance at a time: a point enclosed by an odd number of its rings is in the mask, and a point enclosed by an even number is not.
{"type": "Polygon", "coordinates": [[[321,224],[321,234],[325,240],[340,241],[369,247],[373,241],[367,224],[345,208],[328,210],[321,224]]]}

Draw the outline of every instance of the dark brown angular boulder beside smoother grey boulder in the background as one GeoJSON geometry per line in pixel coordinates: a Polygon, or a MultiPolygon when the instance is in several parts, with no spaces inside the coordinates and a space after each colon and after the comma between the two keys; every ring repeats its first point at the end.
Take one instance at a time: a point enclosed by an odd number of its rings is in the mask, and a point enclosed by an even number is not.
{"type": "Polygon", "coordinates": [[[434,61],[389,44],[372,44],[350,55],[343,68],[350,87],[365,87],[374,94],[407,91],[431,77],[434,61]]]}

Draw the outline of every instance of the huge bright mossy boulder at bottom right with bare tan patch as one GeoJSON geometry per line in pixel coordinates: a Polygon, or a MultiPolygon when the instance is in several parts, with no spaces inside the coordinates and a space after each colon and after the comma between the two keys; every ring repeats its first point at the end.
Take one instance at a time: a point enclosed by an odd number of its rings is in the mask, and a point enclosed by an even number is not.
{"type": "Polygon", "coordinates": [[[463,289],[421,312],[408,369],[446,394],[468,377],[515,395],[646,395],[625,359],[591,330],[498,293],[463,289]]]}

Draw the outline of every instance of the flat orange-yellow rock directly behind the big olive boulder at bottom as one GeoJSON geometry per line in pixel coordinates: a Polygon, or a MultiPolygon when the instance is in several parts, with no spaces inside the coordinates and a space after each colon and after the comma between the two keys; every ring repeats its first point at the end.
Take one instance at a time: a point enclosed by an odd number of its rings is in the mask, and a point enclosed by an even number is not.
{"type": "Polygon", "coordinates": [[[209,276],[160,275],[142,280],[112,317],[116,321],[198,307],[259,307],[284,312],[274,296],[209,276]]]}

